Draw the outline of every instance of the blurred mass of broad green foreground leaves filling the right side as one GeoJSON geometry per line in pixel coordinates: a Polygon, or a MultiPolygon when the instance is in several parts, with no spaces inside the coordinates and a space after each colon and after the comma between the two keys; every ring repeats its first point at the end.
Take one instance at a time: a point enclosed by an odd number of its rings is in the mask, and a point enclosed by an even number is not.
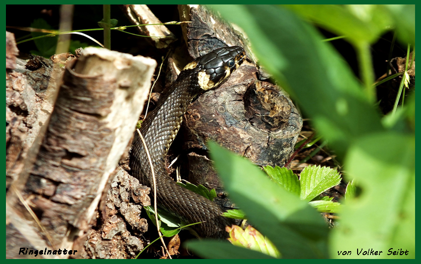
{"type": "MultiPolygon", "coordinates": [[[[210,143],[211,158],[232,200],[282,258],[343,258],[338,256],[343,250],[354,253],[349,258],[378,258],[357,255],[357,248],[386,252],[380,258],[415,258],[415,99],[410,98],[392,125],[385,126],[373,102],[375,90],[367,90],[374,82],[369,44],[394,29],[398,40],[414,45],[415,5],[212,8],[246,32],[260,63],[311,118],[343,161],[349,179],[354,179],[339,227],[328,233],[308,203],[243,158],[210,143]],[[299,16],[346,36],[358,50],[364,86],[330,43],[299,16]],[[409,254],[388,256],[389,248],[403,248],[409,254]]],[[[189,245],[207,258],[259,258],[226,243],[189,245]]]]}

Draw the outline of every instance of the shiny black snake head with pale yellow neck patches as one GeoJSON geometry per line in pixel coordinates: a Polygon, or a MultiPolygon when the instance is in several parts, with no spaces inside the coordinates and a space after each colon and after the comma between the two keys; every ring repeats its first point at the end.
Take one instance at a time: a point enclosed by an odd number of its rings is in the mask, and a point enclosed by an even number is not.
{"type": "Polygon", "coordinates": [[[239,46],[223,47],[200,56],[187,64],[183,70],[194,69],[203,90],[218,86],[226,77],[240,67],[246,52],[239,46]]]}

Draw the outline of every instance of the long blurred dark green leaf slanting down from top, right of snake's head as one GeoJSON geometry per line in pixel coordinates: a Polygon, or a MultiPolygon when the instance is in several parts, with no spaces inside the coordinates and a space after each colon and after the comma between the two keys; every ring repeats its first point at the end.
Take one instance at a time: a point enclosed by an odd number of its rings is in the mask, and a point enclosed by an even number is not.
{"type": "Polygon", "coordinates": [[[313,26],[282,6],[212,7],[246,32],[260,62],[312,118],[338,156],[358,137],[383,130],[378,111],[349,66],[313,26]]]}

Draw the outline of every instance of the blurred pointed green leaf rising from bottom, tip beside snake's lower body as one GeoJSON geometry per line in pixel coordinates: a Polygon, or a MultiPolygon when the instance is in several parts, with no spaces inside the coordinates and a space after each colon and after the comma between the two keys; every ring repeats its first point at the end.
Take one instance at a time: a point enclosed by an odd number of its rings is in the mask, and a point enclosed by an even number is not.
{"type": "Polygon", "coordinates": [[[249,160],[214,142],[209,149],[231,199],[283,258],[326,258],[328,228],[316,210],[270,181],[249,160]]]}

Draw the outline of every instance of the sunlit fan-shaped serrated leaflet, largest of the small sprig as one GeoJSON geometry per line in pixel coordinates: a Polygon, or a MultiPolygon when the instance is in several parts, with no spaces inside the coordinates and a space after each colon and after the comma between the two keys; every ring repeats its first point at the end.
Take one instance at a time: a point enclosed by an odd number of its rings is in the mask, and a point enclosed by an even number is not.
{"type": "Polygon", "coordinates": [[[300,176],[301,199],[310,202],[317,195],[338,185],[341,176],[329,167],[308,166],[303,169],[300,176]]]}

